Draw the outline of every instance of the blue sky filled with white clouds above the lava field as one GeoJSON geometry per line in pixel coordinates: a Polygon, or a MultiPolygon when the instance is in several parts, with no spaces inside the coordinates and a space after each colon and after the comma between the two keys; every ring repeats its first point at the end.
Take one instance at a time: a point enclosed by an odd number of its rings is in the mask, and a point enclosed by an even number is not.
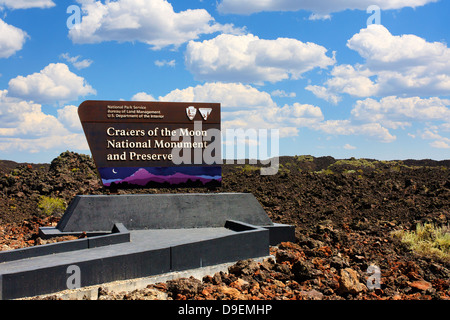
{"type": "Polygon", "coordinates": [[[0,0],[0,159],[90,154],[85,100],[218,102],[224,131],[278,130],[280,156],[449,159],[449,12],[445,0],[0,0]]]}

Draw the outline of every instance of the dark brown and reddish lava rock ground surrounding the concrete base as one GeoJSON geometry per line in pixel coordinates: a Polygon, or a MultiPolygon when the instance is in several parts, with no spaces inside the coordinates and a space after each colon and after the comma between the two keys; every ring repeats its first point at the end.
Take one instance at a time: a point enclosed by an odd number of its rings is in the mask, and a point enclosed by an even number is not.
{"type": "MultiPolygon", "coordinates": [[[[418,253],[393,235],[414,231],[417,223],[449,232],[450,161],[296,156],[282,157],[280,164],[273,176],[261,176],[256,165],[224,165],[223,186],[216,190],[119,190],[251,192],[272,221],[295,225],[297,240],[272,247],[272,259],[239,261],[228,273],[134,292],[101,289],[99,298],[450,299],[449,248],[444,257],[418,253]],[[379,286],[373,270],[380,271],[379,286]]],[[[0,250],[46,243],[37,236],[38,228],[55,225],[75,195],[110,192],[85,155],[65,152],[39,165],[1,161],[0,250]],[[46,206],[50,200],[56,205],[46,206]]]]}

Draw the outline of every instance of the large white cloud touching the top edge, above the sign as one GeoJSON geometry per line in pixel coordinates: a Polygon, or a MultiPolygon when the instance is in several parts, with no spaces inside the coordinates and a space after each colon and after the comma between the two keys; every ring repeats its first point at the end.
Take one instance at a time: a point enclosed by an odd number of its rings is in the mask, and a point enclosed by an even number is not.
{"type": "Polygon", "coordinates": [[[175,12],[166,0],[78,2],[84,15],[81,23],[69,31],[74,43],[140,41],[161,49],[177,47],[202,34],[240,32],[232,25],[216,23],[204,9],[175,12]]]}

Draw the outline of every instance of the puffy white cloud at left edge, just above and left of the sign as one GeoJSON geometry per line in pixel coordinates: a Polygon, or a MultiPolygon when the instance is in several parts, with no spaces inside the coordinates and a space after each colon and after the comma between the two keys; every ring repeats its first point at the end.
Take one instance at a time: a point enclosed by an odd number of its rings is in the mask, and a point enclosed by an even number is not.
{"type": "Polygon", "coordinates": [[[64,63],[51,63],[40,72],[11,79],[8,89],[9,96],[50,104],[95,93],[83,77],[72,73],[64,63]]]}

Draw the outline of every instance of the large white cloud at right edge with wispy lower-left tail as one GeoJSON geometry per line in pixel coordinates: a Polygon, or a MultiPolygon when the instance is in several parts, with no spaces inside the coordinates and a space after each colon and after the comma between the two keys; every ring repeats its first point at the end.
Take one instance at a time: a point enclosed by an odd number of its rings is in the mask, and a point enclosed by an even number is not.
{"type": "Polygon", "coordinates": [[[365,63],[337,65],[323,86],[309,86],[307,90],[329,101],[340,94],[450,94],[450,49],[444,43],[415,35],[392,35],[384,26],[374,24],[349,39],[347,47],[358,52],[365,63]]]}

